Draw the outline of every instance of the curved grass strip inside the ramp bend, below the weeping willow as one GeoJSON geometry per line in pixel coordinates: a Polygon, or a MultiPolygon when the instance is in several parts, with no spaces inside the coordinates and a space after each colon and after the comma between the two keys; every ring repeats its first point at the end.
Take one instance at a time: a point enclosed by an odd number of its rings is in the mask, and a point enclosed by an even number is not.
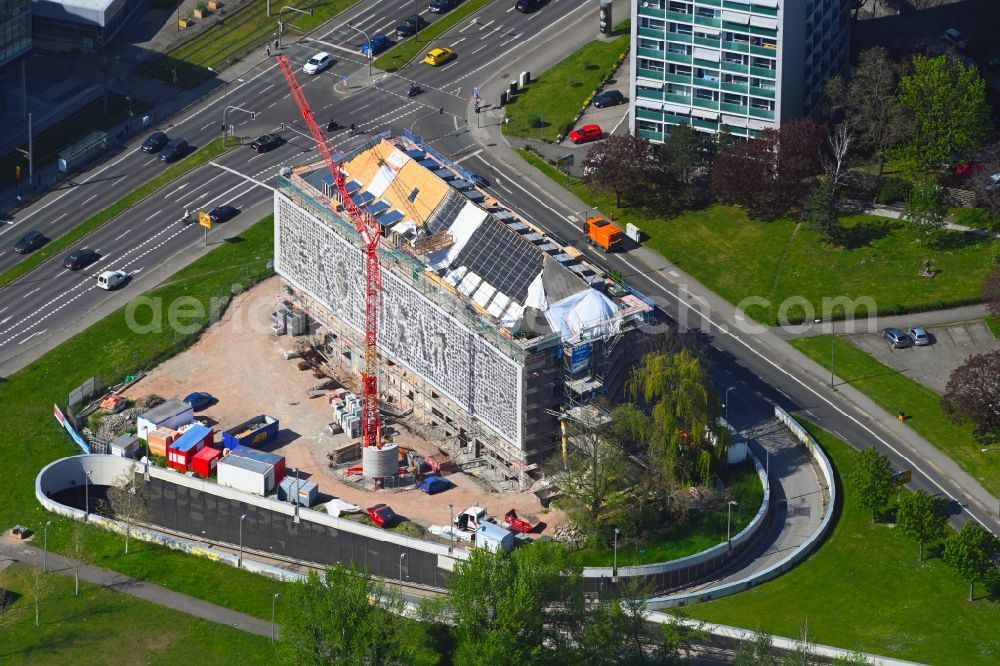
{"type": "MultiPolygon", "coordinates": [[[[764,501],[764,487],[752,463],[740,465],[731,471],[732,499],[739,502],[733,507],[732,534],[736,535],[750,524],[764,501]]],[[[675,525],[646,535],[642,539],[618,541],[618,566],[669,562],[688,555],[714,548],[726,540],[728,511],[723,505],[714,511],[701,514],[684,525],[675,525]]],[[[573,553],[573,562],[582,567],[605,567],[614,563],[614,544],[583,548],[573,553]]]]}

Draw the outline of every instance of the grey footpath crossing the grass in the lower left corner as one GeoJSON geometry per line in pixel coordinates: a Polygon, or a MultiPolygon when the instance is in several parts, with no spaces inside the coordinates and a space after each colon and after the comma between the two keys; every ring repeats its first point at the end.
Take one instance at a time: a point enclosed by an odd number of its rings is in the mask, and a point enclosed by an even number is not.
{"type": "MultiPolygon", "coordinates": [[[[42,550],[40,548],[31,545],[30,542],[14,541],[7,534],[0,536],[0,558],[10,559],[15,562],[25,562],[36,567],[42,566],[42,550]]],[[[62,555],[49,551],[46,556],[46,564],[48,570],[51,572],[63,576],[73,576],[73,569],[70,566],[69,560],[62,555]]],[[[270,622],[259,620],[244,613],[238,613],[223,606],[217,606],[202,599],[189,597],[186,594],[180,594],[159,585],[136,580],[117,571],[87,564],[80,569],[80,579],[110,590],[124,592],[133,597],[166,608],[172,608],[173,610],[208,620],[209,622],[225,624],[234,629],[258,636],[269,637],[271,635],[270,622]]]]}

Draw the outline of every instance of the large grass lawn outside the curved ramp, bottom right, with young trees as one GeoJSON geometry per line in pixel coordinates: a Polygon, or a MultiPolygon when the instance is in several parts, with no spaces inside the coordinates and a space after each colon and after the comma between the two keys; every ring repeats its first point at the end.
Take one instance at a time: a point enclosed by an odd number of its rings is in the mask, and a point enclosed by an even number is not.
{"type": "MultiPolygon", "coordinates": [[[[805,424],[846,477],[857,453],[805,424]]],[[[843,484],[838,481],[838,497],[843,484]]],[[[966,601],[968,585],[935,547],[917,562],[915,543],[891,525],[871,524],[853,495],[838,502],[832,535],[812,557],[747,592],[689,606],[692,617],[925,664],[989,664],[1000,658],[1000,599],[966,601]]]]}

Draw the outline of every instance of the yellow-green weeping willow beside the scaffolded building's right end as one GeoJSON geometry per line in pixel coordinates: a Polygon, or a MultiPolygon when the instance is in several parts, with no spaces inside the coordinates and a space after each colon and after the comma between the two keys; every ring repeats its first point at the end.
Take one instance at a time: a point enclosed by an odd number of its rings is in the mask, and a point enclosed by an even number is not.
{"type": "Polygon", "coordinates": [[[719,398],[701,360],[686,348],[647,354],[626,389],[650,408],[652,489],[659,493],[669,479],[706,479],[726,452],[729,430],[719,425],[719,398]]]}

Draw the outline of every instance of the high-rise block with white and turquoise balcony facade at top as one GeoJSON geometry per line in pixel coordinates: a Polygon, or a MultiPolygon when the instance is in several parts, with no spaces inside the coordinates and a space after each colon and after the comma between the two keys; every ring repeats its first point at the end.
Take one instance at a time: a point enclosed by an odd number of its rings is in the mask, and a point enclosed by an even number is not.
{"type": "Polygon", "coordinates": [[[847,65],[850,0],[636,0],[631,129],[753,136],[812,113],[847,65]]]}

